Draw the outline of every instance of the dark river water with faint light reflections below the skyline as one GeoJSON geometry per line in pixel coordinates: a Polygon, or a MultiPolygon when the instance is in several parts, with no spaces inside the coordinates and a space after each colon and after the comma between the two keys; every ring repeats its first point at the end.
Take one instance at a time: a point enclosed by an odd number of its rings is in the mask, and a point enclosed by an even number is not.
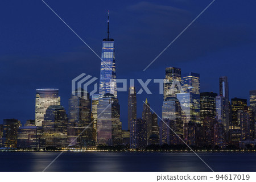
{"type": "MultiPolygon", "coordinates": [[[[0,152],[0,171],[43,171],[58,152],[0,152]]],[[[214,171],[256,171],[256,154],[199,153],[214,171]]],[[[66,153],[46,171],[210,171],[193,153],[66,153]]]]}

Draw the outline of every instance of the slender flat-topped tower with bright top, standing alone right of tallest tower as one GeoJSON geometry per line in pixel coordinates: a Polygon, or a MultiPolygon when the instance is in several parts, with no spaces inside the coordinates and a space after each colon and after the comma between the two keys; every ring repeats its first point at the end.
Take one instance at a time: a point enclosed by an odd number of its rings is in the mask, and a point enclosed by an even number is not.
{"type": "Polygon", "coordinates": [[[137,118],[137,99],[134,86],[129,88],[128,93],[128,130],[130,130],[130,123],[137,118]]]}

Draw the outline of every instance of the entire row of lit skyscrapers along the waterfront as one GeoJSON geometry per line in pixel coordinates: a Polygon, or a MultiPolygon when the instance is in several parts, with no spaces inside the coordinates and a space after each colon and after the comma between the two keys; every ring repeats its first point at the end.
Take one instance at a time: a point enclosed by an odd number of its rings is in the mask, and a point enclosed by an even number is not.
{"type": "MultiPolygon", "coordinates": [[[[117,98],[114,39],[102,41],[98,94],[72,90],[68,111],[61,106],[59,89],[36,89],[35,119],[24,126],[18,119],[0,125],[0,146],[31,150],[86,150],[94,146],[147,146],[245,148],[256,144],[256,90],[250,105],[242,98],[229,98],[228,78],[219,78],[219,93],[200,92],[200,75],[168,67],[163,83],[162,117],[146,99],[137,117],[137,92],[128,93],[127,130],[122,130],[117,98]],[[158,119],[160,117],[160,119],[158,119]]],[[[155,106],[154,106],[155,107],[155,106]]],[[[94,147],[95,148],[95,147],[94,147]]]]}

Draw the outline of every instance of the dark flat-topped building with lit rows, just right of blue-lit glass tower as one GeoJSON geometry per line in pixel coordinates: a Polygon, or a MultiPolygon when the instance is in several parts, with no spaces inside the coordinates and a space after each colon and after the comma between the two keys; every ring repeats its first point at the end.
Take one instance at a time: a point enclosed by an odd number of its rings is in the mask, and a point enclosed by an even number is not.
{"type": "Polygon", "coordinates": [[[205,118],[210,117],[215,119],[216,117],[216,97],[217,93],[202,92],[200,93],[200,117],[204,122],[205,118]]]}

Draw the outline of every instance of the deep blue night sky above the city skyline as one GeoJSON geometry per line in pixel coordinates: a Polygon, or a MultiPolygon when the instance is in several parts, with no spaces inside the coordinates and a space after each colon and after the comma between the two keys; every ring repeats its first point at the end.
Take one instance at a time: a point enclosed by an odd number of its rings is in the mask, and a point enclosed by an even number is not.
{"type": "MultiPolygon", "coordinates": [[[[143,69],[212,0],[82,1],[46,0],[101,55],[106,38],[115,40],[117,78],[164,78],[166,67],[200,73],[201,92],[218,93],[218,77],[228,76],[230,98],[249,98],[256,89],[256,1],[216,0],[145,72],[143,69]]],[[[0,2],[0,121],[35,117],[35,89],[59,88],[68,110],[71,80],[81,73],[100,76],[100,59],[40,0],[0,2]]],[[[137,92],[141,88],[138,82],[137,92]]],[[[138,117],[148,98],[161,115],[163,96],[137,95],[138,117]]],[[[143,92],[144,93],[144,92],[143,92]]],[[[127,92],[118,92],[123,129],[127,92]]]]}

